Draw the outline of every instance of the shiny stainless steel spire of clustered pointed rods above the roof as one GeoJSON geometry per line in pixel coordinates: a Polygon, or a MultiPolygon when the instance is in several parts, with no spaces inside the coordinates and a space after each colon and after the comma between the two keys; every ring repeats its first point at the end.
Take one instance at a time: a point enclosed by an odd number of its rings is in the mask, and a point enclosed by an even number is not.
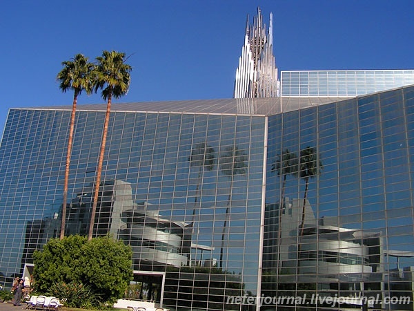
{"type": "Polygon", "coordinates": [[[253,25],[246,25],[246,35],[239,67],[236,70],[235,98],[277,97],[279,82],[273,56],[273,15],[269,29],[263,23],[262,11],[257,8],[253,25]]]}

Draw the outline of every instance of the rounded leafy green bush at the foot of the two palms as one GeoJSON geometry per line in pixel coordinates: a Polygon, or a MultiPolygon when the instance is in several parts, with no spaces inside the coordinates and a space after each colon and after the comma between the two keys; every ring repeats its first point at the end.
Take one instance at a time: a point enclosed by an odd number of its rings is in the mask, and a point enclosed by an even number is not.
{"type": "Polygon", "coordinates": [[[133,276],[130,246],[110,236],[52,238],[43,250],[34,251],[33,260],[36,290],[43,294],[59,284],[80,284],[104,303],[115,303],[133,276]]]}

